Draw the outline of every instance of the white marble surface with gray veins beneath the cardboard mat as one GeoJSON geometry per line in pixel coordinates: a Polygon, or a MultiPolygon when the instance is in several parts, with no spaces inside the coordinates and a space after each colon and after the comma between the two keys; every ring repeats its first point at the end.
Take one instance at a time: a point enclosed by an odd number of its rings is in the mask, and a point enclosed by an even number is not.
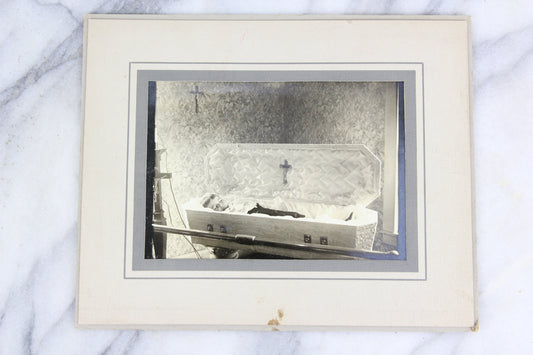
{"type": "Polygon", "coordinates": [[[0,1],[0,354],[533,353],[533,3],[0,1]],[[478,333],[74,327],[85,13],[473,17],[478,333]]]}

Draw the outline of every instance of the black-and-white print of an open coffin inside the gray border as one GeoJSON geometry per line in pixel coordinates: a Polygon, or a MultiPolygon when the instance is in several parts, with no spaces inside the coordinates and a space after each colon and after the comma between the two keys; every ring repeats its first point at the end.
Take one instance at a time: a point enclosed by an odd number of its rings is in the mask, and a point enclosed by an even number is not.
{"type": "Polygon", "coordinates": [[[403,88],[150,81],[145,259],[405,260],[403,88]]]}

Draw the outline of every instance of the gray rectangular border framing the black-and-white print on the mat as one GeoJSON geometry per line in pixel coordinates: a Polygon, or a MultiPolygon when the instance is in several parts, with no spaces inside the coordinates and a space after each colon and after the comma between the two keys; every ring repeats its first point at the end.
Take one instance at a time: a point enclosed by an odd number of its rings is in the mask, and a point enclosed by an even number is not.
{"type": "MultiPolygon", "coordinates": [[[[354,70],[354,71],[239,71],[239,70],[138,70],[132,72],[132,64],[158,64],[155,62],[131,62],[130,81],[137,74],[137,106],[135,112],[135,172],[133,211],[133,270],[134,271],[297,271],[297,272],[417,272],[418,221],[417,221],[417,171],[416,171],[416,72],[414,70],[354,70]],[[148,121],[149,81],[383,81],[404,83],[405,122],[405,203],[406,203],[406,259],[405,260],[198,260],[198,259],[144,259],[145,213],[146,213],[146,135],[148,121]]],[[[160,63],[202,64],[202,63],[160,63]]],[[[217,64],[217,63],[204,63],[217,64]]],[[[228,64],[228,63],[218,63],[228,64]]],[[[233,63],[233,64],[365,64],[365,63],[233,63]]],[[[394,64],[394,63],[367,63],[394,64]]],[[[420,64],[423,63],[396,63],[420,64]]],[[[422,70],[423,75],[423,70],[422,70]]],[[[422,78],[423,79],[423,78],[422,78]]],[[[130,88],[130,90],[133,88],[130,88]]],[[[130,93],[131,95],[131,93],[130,93]]],[[[131,96],[129,97],[129,100],[131,96]]],[[[128,101],[129,101],[128,100],[128,101]]],[[[128,128],[129,130],[129,128],[128,128]]],[[[420,127],[423,132],[423,127],[420,127]]],[[[128,135],[129,137],[129,135],[128,135]]],[[[128,152],[129,154],[129,152],[128,152]]],[[[129,167],[127,167],[129,169],[129,167]]],[[[425,165],[424,165],[425,170],[425,165]]],[[[425,175],[425,174],[424,174],[425,175]]],[[[422,176],[424,176],[422,175],[422,176]]],[[[126,177],[127,178],[127,177],[126,177]]],[[[128,181],[126,186],[128,186],[128,181]]],[[[127,196],[127,191],[126,191],[127,196]]],[[[126,202],[127,206],[127,202],[126,202]]],[[[424,235],[425,238],[425,235],[424,235]]],[[[126,249],[125,249],[126,250],[126,249]]],[[[125,265],[126,267],[126,265],[125,265]]],[[[334,274],[331,278],[335,279],[334,274]]],[[[155,278],[160,278],[154,275],[155,278]]],[[[425,278],[426,276],[424,276],[425,278]]],[[[125,277],[126,278],[126,277],[125,277]]],[[[138,278],[138,277],[128,277],[138,278]]],[[[144,278],[144,277],[142,277],[144,278]]],[[[183,278],[183,277],[165,277],[183,278]]],[[[191,277],[187,277],[191,278],[191,277]]],[[[197,278],[197,277],[193,277],[197,278]]],[[[205,277],[202,277],[205,278],[205,277]]],[[[221,278],[221,277],[213,277],[221,278]]],[[[228,278],[228,277],[222,277],[228,278]]],[[[236,277],[229,277],[236,278],[236,277]]],[[[238,277],[239,279],[262,279],[262,277],[238,277]]],[[[271,278],[268,278],[271,279],[271,278]]],[[[285,278],[283,278],[285,279],[285,278]]],[[[297,278],[296,278],[297,279],[297,278]]],[[[302,278],[308,279],[308,278],[302,278]]],[[[354,278],[357,279],[357,278],[354,278]]],[[[383,280],[385,278],[379,278],[383,280]]]]}

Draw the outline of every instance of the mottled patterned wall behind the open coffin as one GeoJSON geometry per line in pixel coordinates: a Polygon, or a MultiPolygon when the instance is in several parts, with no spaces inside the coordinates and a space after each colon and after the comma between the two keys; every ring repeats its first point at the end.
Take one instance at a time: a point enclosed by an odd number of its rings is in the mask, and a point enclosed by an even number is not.
{"type": "MultiPolygon", "coordinates": [[[[382,160],[385,95],[395,85],[157,82],[156,143],[167,149],[162,170],[173,174],[174,196],[170,182],[162,188],[167,219],[182,225],[174,197],[180,205],[213,192],[204,160],[216,143],[365,144],[382,160]]],[[[369,208],[381,214],[381,198],[369,208]]],[[[185,252],[170,239],[169,257],[185,252]]]]}

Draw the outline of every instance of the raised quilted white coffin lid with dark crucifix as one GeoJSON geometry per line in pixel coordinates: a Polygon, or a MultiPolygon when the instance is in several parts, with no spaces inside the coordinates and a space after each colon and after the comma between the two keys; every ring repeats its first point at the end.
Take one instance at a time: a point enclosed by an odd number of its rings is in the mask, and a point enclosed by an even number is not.
{"type": "Polygon", "coordinates": [[[366,207],[381,190],[381,162],[363,144],[217,144],[206,170],[221,195],[366,207]]]}

